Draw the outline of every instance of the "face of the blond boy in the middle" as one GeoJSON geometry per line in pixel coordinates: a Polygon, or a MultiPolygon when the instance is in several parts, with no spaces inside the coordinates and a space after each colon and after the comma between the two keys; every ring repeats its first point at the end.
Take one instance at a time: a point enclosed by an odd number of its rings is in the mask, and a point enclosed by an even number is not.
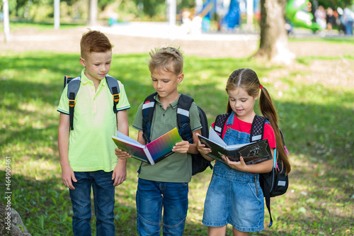
{"type": "Polygon", "coordinates": [[[173,74],[164,69],[155,69],[151,73],[152,86],[160,98],[169,98],[178,94],[177,85],[182,82],[184,74],[173,74]]]}

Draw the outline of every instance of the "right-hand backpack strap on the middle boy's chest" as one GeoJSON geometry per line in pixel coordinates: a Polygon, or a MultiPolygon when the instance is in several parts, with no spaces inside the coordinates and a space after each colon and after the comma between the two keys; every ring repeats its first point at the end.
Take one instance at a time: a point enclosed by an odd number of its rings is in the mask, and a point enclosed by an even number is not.
{"type": "Polygon", "coordinates": [[[190,130],[189,109],[194,99],[188,95],[181,94],[177,104],[177,125],[178,133],[183,140],[193,143],[193,134],[190,130]]]}

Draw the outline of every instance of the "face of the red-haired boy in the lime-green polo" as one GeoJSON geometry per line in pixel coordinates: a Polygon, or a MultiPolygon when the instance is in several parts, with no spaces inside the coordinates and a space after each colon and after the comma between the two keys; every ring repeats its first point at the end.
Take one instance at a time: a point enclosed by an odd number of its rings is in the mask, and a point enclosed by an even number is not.
{"type": "Polygon", "coordinates": [[[112,51],[90,52],[80,57],[80,63],[85,67],[85,75],[93,82],[100,82],[110,71],[112,51]]]}

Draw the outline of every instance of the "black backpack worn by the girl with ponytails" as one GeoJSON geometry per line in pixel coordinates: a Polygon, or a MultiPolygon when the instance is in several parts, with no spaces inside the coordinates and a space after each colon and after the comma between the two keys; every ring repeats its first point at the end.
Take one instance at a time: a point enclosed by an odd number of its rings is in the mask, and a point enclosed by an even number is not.
{"type": "MultiPolygon", "coordinates": [[[[222,137],[224,124],[227,122],[227,118],[231,113],[226,113],[217,116],[215,120],[215,132],[222,137]]],[[[255,116],[251,126],[251,134],[250,134],[250,142],[256,142],[258,140],[263,140],[263,132],[264,125],[267,122],[267,118],[263,116],[255,116]]],[[[287,152],[287,148],[285,146],[284,135],[282,131],[280,131],[280,136],[282,137],[282,144],[284,145],[284,150],[287,152]]],[[[287,152],[289,154],[289,152],[287,152]]],[[[289,177],[285,174],[286,168],[285,165],[282,164],[282,160],[280,158],[276,158],[276,149],[274,152],[273,159],[273,169],[271,172],[259,174],[259,184],[261,185],[261,189],[263,191],[263,196],[265,198],[265,205],[268,208],[269,216],[270,216],[270,224],[268,227],[273,225],[272,214],[270,213],[270,198],[275,196],[280,196],[286,193],[287,188],[289,186],[289,177]]]]}

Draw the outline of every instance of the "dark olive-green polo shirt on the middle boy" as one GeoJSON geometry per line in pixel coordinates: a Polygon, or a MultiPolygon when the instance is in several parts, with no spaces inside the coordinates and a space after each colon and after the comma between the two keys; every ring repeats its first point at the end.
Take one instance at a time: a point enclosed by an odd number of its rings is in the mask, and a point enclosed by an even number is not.
{"type": "MultiPolygon", "coordinates": [[[[159,101],[159,96],[155,96],[156,106],[154,116],[152,118],[151,140],[156,140],[157,137],[164,135],[177,125],[177,103],[178,99],[167,106],[166,110],[159,101]]],[[[199,111],[195,103],[192,104],[189,110],[190,113],[190,128],[192,131],[200,130],[199,111]]],[[[142,131],[142,104],[137,110],[133,128],[142,131]]],[[[161,162],[153,166],[142,162],[138,175],[141,179],[163,182],[189,182],[192,179],[192,157],[188,153],[173,153],[171,156],[163,159],[161,162]]]]}

